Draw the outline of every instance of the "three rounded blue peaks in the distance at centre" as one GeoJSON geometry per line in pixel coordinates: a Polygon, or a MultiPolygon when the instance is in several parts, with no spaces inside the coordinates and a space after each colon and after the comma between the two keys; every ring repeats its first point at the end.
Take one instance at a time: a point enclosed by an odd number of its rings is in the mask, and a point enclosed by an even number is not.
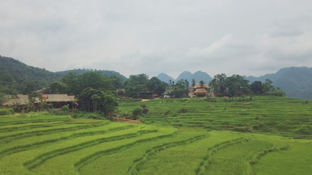
{"type": "Polygon", "coordinates": [[[160,73],[157,76],[157,78],[160,79],[161,81],[166,82],[166,83],[168,83],[169,80],[176,82],[176,81],[181,80],[181,79],[187,79],[188,83],[190,83],[190,84],[192,83],[192,79],[195,79],[196,83],[199,83],[201,80],[203,80],[205,83],[209,83],[212,80],[210,75],[208,75],[206,72],[202,72],[202,71],[197,71],[193,74],[191,72],[184,71],[178,76],[177,79],[174,79],[165,73],[160,73]]]}

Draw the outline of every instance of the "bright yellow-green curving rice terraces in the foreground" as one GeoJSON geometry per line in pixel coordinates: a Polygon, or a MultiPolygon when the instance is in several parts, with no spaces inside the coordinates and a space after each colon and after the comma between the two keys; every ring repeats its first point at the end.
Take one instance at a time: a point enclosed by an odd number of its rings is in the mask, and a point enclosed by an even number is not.
{"type": "Polygon", "coordinates": [[[284,175],[312,171],[311,140],[281,136],[40,113],[0,116],[0,131],[3,175],[284,175]]]}

